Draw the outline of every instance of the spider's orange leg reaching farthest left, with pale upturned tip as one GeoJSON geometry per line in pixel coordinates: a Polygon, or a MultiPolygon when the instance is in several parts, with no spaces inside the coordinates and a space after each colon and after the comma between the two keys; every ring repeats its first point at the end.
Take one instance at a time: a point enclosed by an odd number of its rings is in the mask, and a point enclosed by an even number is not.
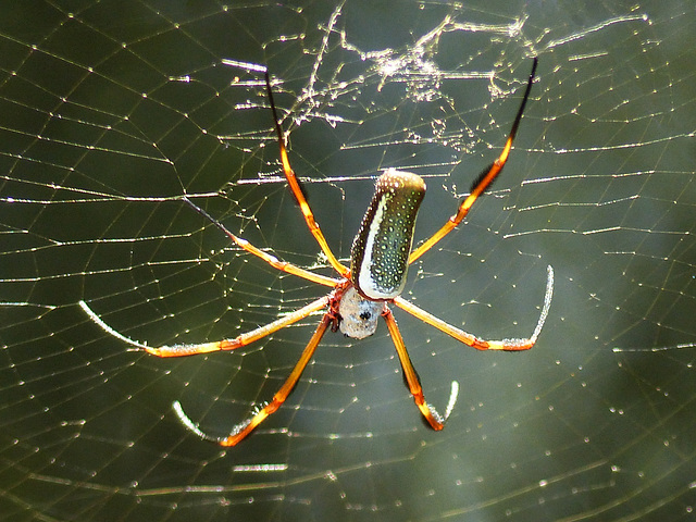
{"type": "Polygon", "coordinates": [[[327,307],[328,303],[330,303],[330,296],[320,297],[315,301],[310,302],[309,304],[300,308],[299,310],[295,310],[294,312],[283,315],[282,318],[273,321],[272,323],[269,323],[264,326],[260,326],[256,330],[252,330],[251,332],[240,334],[233,339],[216,340],[213,343],[200,343],[196,345],[187,345],[187,344],[172,345],[172,346],[165,345],[160,347],[151,347],[145,343],[133,340],[132,338],[126,337],[125,335],[115,331],[114,328],[109,326],[99,315],[97,315],[87,306],[85,301],[79,301],[79,307],[85,311],[85,313],[87,313],[87,315],[89,315],[89,319],[91,319],[99,327],[101,327],[101,330],[103,330],[108,334],[116,337],[117,339],[121,339],[122,341],[135,348],[146,350],[149,353],[152,353],[153,356],[158,356],[158,357],[183,357],[183,356],[195,356],[198,353],[209,353],[211,351],[219,351],[219,350],[234,350],[241,346],[249,345],[254,340],[259,340],[268,335],[273,334],[274,332],[277,332],[281,328],[284,328],[285,326],[288,326],[293,323],[298,322],[301,319],[307,318],[312,312],[315,312],[316,310],[321,310],[322,308],[327,307]]]}

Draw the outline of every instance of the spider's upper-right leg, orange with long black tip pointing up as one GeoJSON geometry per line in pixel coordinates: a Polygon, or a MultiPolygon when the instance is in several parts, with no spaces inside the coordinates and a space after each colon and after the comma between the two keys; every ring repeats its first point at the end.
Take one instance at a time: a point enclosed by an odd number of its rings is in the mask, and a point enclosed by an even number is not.
{"type": "Polygon", "coordinates": [[[537,58],[534,58],[534,64],[532,65],[532,72],[530,73],[530,79],[526,84],[526,90],[524,91],[524,98],[522,98],[522,103],[520,104],[520,109],[518,110],[518,114],[514,117],[514,122],[512,123],[512,129],[508,135],[508,140],[502,148],[502,152],[493,164],[485,170],[481,176],[474,182],[474,185],[471,188],[471,194],[461,202],[459,206],[459,210],[455,215],[452,215],[447,223],[443,225],[443,227],[433,234],[430,238],[427,238],[423,244],[419,245],[419,247],[411,251],[411,256],[409,257],[409,264],[413,263],[418,258],[427,252],[433,246],[439,241],[447,234],[452,232],[457,225],[459,225],[467,214],[469,213],[469,209],[474,204],[474,201],[478,199],[478,197],[490,186],[494,179],[500,174],[502,167],[508,161],[508,156],[510,154],[510,149],[512,148],[512,141],[514,140],[514,136],[518,134],[518,127],[520,126],[520,120],[522,120],[522,113],[524,112],[524,105],[526,105],[526,100],[530,97],[530,91],[532,90],[532,84],[534,83],[534,74],[536,73],[536,64],[537,58]]]}

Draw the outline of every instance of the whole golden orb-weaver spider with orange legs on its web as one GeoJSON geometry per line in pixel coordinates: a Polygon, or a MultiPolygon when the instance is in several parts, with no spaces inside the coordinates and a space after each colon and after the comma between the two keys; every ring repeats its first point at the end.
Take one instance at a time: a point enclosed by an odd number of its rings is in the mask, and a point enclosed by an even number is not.
{"type": "Polygon", "coordinates": [[[338,273],[338,277],[328,277],[322,274],[316,274],[300,266],[278,260],[274,256],[262,251],[245,239],[232,234],[224,225],[214,220],[207,211],[196,206],[188,198],[184,197],[183,199],[199,214],[215,224],[239,248],[260,258],[279,271],[327,286],[331,289],[330,293],[299,310],[283,315],[272,323],[241,334],[233,339],[192,345],[182,344],[160,346],[157,348],[133,340],[116,332],[103,322],[85,301],[79,301],[80,307],[94,322],[109,334],[137,347],[138,349],[147,350],[149,353],[158,357],[181,357],[208,353],[219,350],[234,350],[271,335],[274,332],[296,323],[314,312],[322,309],[325,310],[314,334],[304,347],[299,361],[283,386],[281,386],[270,402],[265,402],[257,407],[249,419],[234,426],[229,435],[223,437],[208,435],[184,413],[178,401],[174,402],[174,410],[187,428],[201,438],[216,442],[222,446],[235,446],[241,442],[261,422],[283,405],[293,391],[295,385],[298,383],[302,371],[312,359],[314,350],[327,328],[331,328],[332,332],[339,330],[348,337],[360,339],[372,335],[377,327],[378,319],[382,318],[387,325],[389,336],[396,347],[399,362],[401,363],[401,369],[403,371],[403,377],[409,391],[413,396],[415,406],[433,430],[442,430],[457,401],[459,385],[456,381],[451,383],[450,398],[444,414],[438,413],[433,406],[425,401],[420,378],[411,363],[409,353],[406,349],[406,345],[389,304],[400,308],[424,323],[427,323],[455,339],[478,350],[520,351],[529,350],[534,346],[536,338],[542,331],[551,302],[554,271],[550,265],[547,271],[546,294],[544,297],[542,312],[536,327],[534,328],[532,336],[529,338],[502,340],[481,339],[446,323],[425,310],[422,310],[415,304],[403,299],[400,294],[406,284],[406,275],[409,265],[433,248],[437,241],[461,223],[474,201],[476,201],[486,188],[490,186],[496,176],[500,174],[500,171],[508,160],[512,141],[520,125],[520,120],[522,119],[524,105],[526,104],[532,89],[537,59],[535,58],[522,103],[520,104],[514,122],[512,123],[512,128],[502,152],[473,183],[471,194],[460,202],[457,213],[428,239],[420,244],[414,250],[411,250],[415,216],[421,201],[423,200],[423,196],[425,195],[425,183],[415,174],[401,172],[396,169],[386,170],[376,182],[375,194],[368,207],[362,224],[360,225],[358,234],[353,240],[350,252],[350,268],[345,266],[340,261],[338,261],[328,247],[324,235],[314,221],[314,214],[307,202],[302,188],[290,167],[283,130],[281,129],[275,102],[273,101],[271,80],[268,71],[263,70],[265,72],[265,86],[269,102],[271,104],[271,111],[273,113],[273,121],[281,151],[281,162],[283,164],[285,177],[290,191],[299,203],[309,231],[316,239],[316,243],[326,256],[328,263],[338,273]]]}

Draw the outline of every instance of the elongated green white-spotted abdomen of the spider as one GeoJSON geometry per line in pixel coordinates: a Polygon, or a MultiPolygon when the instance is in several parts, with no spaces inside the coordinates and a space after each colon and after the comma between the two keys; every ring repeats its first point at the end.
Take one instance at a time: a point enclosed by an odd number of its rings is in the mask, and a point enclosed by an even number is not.
{"type": "Polygon", "coordinates": [[[393,299],[403,290],[424,195],[425,183],[410,172],[389,169],[377,179],[350,252],[351,279],[361,296],[393,299]]]}

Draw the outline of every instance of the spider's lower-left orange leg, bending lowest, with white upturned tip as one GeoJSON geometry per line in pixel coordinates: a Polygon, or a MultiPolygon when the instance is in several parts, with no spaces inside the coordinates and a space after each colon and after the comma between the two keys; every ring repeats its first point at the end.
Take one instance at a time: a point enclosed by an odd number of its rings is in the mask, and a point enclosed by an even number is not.
{"type": "Polygon", "coordinates": [[[271,400],[271,402],[268,402],[265,406],[263,406],[263,408],[254,412],[250,419],[247,419],[240,424],[237,424],[228,436],[213,437],[211,435],[206,434],[186,415],[186,413],[184,413],[184,410],[182,409],[181,405],[178,402],[175,402],[174,410],[176,411],[177,417],[186,427],[188,427],[191,432],[194,432],[196,435],[198,435],[201,438],[215,442],[221,446],[237,445],[247,435],[249,435],[259,424],[261,424],[270,414],[274,413],[281,407],[281,405],[283,405],[283,402],[285,402],[285,399],[287,399],[287,397],[293,391],[293,388],[295,388],[295,386],[297,385],[297,382],[302,375],[304,368],[307,368],[307,364],[312,359],[312,356],[314,355],[314,350],[316,349],[316,346],[322,340],[322,337],[324,336],[326,328],[328,327],[330,324],[332,324],[332,322],[333,322],[333,319],[331,313],[326,312],[322,318],[322,321],[319,323],[319,326],[316,326],[316,331],[314,332],[314,335],[312,335],[312,338],[307,344],[307,347],[304,347],[304,351],[302,351],[302,355],[300,356],[299,361],[297,361],[297,364],[295,364],[293,372],[287,377],[283,386],[281,386],[281,389],[278,389],[276,394],[273,396],[273,399],[271,400]]]}

